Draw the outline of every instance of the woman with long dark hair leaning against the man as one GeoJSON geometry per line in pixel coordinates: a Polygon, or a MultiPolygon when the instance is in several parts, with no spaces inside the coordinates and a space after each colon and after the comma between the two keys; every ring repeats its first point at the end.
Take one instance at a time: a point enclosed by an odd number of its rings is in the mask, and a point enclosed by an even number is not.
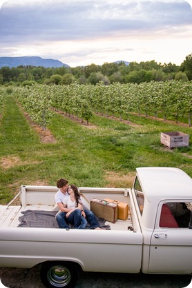
{"type": "Polygon", "coordinates": [[[66,213],[66,221],[74,225],[74,229],[84,229],[87,225],[86,214],[76,185],[68,185],[69,197],[63,200],[64,207],[71,209],[66,213]]]}

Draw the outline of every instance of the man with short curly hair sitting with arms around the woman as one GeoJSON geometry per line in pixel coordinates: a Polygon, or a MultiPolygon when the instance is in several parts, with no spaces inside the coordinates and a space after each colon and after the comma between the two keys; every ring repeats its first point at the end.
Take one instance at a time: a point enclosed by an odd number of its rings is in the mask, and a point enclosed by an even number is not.
{"type": "MultiPolygon", "coordinates": [[[[59,225],[59,228],[68,229],[69,225],[68,223],[66,223],[65,216],[66,213],[70,211],[70,209],[65,208],[63,205],[64,198],[69,196],[67,193],[68,181],[65,178],[60,178],[57,181],[57,188],[59,188],[59,190],[55,194],[55,202],[60,209],[60,212],[56,215],[57,223],[59,225]]],[[[90,229],[99,229],[99,223],[97,222],[97,219],[95,218],[95,215],[92,211],[84,207],[84,211],[82,211],[81,213],[83,216],[86,216],[86,220],[90,224],[90,229]]]]}

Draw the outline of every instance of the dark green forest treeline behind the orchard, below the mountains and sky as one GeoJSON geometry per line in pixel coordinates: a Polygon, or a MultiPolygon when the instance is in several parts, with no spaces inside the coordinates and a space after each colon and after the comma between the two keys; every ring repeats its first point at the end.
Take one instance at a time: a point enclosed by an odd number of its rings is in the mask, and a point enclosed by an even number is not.
{"type": "Polygon", "coordinates": [[[151,81],[191,81],[192,54],[184,59],[180,66],[162,64],[153,61],[120,63],[104,63],[103,65],[87,65],[76,68],[44,68],[19,66],[17,68],[0,68],[0,85],[30,85],[32,83],[47,85],[113,83],[148,83],[151,81]]]}

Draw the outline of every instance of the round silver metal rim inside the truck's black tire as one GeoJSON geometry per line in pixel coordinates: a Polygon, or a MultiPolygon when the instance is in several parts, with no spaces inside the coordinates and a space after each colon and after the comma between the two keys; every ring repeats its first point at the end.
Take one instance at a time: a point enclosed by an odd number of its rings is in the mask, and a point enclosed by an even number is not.
{"type": "Polygon", "coordinates": [[[48,271],[48,282],[54,287],[65,287],[70,280],[70,271],[64,266],[53,266],[48,271]]]}

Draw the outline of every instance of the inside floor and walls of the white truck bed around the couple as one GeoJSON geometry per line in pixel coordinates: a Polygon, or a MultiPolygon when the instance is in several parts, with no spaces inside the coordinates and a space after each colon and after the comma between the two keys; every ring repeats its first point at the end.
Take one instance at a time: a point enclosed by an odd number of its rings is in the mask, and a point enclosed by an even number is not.
{"type": "MultiPolygon", "coordinates": [[[[0,205],[0,227],[18,227],[19,217],[22,216],[21,212],[26,210],[54,211],[54,196],[57,190],[57,187],[22,186],[21,194],[19,195],[21,205],[0,205]],[[45,204],[41,204],[43,203],[43,199],[46,202],[45,204]]],[[[128,201],[129,205],[127,189],[81,187],[79,190],[84,195],[88,205],[89,201],[93,198],[113,198],[124,202],[128,201]]],[[[133,227],[130,209],[128,210],[127,220],[118,219],[116,223],[106,221],[105,224],[110,225],[111,230],[127,230],[128,227],[133,227]]]]}

